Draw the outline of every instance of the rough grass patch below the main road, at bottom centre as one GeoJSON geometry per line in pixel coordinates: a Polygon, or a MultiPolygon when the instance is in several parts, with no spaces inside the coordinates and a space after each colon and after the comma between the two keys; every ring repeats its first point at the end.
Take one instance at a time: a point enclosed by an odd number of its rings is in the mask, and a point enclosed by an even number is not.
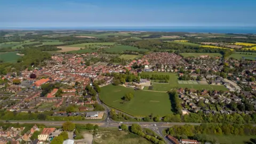
{"type": "Polygon", "coordinates": [[[150,144],[151,142],[145,138],[140,137],[137,134],[118,131],[118,130],[105,130],[105,133],[102,133],[101,137],[95,137],[93,139],[93,144],[150,144]],[[107,132],[106,132],[107,131],[107,132]],[[111,132],[108,132],[111,131],[111,132]]]}

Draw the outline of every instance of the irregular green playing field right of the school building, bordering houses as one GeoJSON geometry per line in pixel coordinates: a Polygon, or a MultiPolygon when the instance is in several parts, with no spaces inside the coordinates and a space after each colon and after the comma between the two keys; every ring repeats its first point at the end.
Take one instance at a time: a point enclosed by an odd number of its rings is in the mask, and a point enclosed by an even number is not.
{"type": "MultiPolygon", "coordinates": [[[[223,90],[223,91],[227,91],[228,89],[223,86],[223,85],[202,85],[202,84],[179,84],[178,83],[178,75],[175,73],[142,73],[142,74],[148,74],[148,75],[152,75],[152,74],[158,74],[158,75],[170,75],[170,81],[169,84],[161,84],[161,83],[153,83],[153,87],[154,87],[154,91],[170,91],[171,89],[174,88],[183,88],[185,89],[186,87],[188,89],[196,89],[196,90],[202,90],[202,89],[206,89],[206,90],[223,90]]],[[[148,87],[145,87],[144,90],[148,90],[148,87]]]]}

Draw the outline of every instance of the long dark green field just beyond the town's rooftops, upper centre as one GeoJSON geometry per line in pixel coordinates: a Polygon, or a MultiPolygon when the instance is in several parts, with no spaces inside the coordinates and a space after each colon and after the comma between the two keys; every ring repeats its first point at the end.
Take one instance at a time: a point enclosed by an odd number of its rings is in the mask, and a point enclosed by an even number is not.
{"type": "Polygon", "coordinates": [[[138,47],[128,46],[128,45],[116,45],[106,49],[106,52],[124,52],[124,51],[148,51],[146,49],[139,49],[138,47]]]}

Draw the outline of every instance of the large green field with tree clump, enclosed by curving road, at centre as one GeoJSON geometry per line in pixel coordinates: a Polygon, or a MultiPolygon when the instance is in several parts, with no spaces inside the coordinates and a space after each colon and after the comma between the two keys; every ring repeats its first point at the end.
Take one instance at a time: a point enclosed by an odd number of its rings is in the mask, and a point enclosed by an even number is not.
{"type": "Polygon", "coordinates": [[[133,116],[154,115],[165,116],[171,114],[171,102],[167,93],[149,92],[126,88],[123,86],[107,85],[101,87],[100,99],[107,105],[125,111],[133,116]],[[129,102],[121,99],[127,92],[134,93],[129,102]]]}

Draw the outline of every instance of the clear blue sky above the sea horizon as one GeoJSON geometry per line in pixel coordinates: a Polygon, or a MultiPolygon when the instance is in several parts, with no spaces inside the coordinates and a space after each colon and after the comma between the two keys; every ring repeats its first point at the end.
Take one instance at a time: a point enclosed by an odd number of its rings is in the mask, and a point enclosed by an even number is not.
{"type": "Polygon", "coordinates": [[[0,27],[256,26],[255,0],[8,0],[0,27]]]}

